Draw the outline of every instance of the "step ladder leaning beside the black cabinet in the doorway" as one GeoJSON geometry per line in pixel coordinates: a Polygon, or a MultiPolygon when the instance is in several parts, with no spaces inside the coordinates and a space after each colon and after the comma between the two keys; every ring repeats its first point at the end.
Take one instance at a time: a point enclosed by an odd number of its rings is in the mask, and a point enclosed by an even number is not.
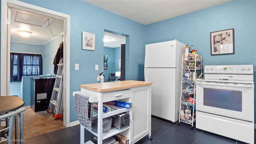
{"type": "Polygon", "coordinates": [[[50,100],[50,104],[48,107],[48,113],[54,113],[54,119],[63,118],[63,58],[60,59],[58,64],[58,71],[56,74],[56,79],[54,83],[54,87],[52,90],[52,96],[50,100]]]}

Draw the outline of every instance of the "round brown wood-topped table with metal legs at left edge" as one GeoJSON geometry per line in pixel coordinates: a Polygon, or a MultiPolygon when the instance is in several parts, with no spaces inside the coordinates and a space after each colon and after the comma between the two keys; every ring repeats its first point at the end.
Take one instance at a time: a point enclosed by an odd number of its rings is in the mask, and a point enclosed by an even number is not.
{"type": "MultiPolygon", "coordinates": [[[[8,113],[24,106],[24,101],[18,96],[0,96],[0,114],[8,113]]],[[[23,114],[19,113],[20,116],[20,144],[23,144],[23,114]]],[[[18,140],[18,123],[15,118],[15,140],[18,140]]],[[[17,142],[15,141],[15,144],[17,142]]]]}

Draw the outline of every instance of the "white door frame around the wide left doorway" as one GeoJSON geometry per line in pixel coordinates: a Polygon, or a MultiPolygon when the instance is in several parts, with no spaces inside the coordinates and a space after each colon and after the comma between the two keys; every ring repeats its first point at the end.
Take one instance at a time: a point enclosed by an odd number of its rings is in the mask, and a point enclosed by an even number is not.
{"type": "Polygon", "coordinates": [[[24,9],[64,20],[64,82],[63,86],[63,125],[70,127],[70,15],[20,2],[1,0],[1,74],[0,96],[10,94],[10,30],[8,31],[8,7],[24,9]]]}

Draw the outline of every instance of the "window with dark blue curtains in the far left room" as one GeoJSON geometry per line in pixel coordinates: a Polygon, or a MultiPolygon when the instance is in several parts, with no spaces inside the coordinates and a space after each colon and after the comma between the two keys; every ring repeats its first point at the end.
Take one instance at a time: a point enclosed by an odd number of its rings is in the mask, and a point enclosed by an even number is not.
{"type": "Polygon", "coordinates": [[[22,76],[42,75],[42,54],[11,52],[10,82],[20,82],[22,76]]]}

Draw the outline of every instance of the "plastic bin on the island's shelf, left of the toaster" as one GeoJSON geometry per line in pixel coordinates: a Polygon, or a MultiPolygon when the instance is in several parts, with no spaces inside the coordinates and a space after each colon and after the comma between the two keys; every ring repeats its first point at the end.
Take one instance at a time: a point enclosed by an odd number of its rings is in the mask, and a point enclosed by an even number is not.
{"type": "MultiPolygon", "coordinates": [[[[102,133],[108,132],[111,129],[112,117],[103,118],[102,133]]],[[[98,116],[92,118],[92,131],[98,132],[98,116]]]]}

